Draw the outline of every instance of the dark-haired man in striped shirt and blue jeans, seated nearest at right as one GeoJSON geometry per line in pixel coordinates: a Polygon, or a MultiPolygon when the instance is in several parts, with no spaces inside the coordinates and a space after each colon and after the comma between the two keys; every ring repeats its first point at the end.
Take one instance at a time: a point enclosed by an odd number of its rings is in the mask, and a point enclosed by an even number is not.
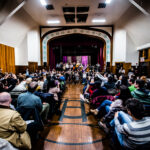
{"type": "Polygon", "coordinates": [[[150,117],[143,117],[144,105],[136,100],[127,102],[128,114],[115,113],[115,133],[121,146],[126,149],[137,149],[140,145],[150,143],[150,117]]]}

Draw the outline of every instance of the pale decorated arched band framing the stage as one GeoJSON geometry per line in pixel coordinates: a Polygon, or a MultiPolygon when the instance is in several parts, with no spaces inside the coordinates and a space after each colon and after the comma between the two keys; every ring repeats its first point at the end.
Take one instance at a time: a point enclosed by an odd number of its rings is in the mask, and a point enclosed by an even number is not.
{"type": "Polygon", "coordinates": [[[44,37],[42,41],[43,63],[47,62],[47,42],[52,38],[69,34],[84,34],[104,39],[104,41],[106,42],[106,62],[110,62],[111,40],[107,34],[100,31],[93,31],[86,29],[68,29],[49,33],[44,37]]]}

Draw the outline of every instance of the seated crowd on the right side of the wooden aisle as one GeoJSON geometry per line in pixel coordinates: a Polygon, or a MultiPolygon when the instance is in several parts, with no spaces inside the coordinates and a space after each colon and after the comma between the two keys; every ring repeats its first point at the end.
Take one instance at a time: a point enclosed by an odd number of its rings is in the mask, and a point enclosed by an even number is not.
{"type": "Polygon", "coordinates": [[[118,75],[99,72],[86,79],[82,101],[111,137],[116,149],[150,148],[150,81],[130,72],[118,75]]]}

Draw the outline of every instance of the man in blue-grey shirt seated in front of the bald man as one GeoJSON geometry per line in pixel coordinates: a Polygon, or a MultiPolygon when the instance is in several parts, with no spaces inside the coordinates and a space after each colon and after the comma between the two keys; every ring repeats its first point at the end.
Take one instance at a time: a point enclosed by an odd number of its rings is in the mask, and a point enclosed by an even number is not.
{"type": "Polygon", "coordinates": [[[31,82],[28,85],[28,91],[26,93],[22,93],[18,97],[17,107],[35,107],[42,115],[43,121],[47,121],[47,116],[49,112],[49,104],[43,103],[40,97],[34,94],[36,88],[38,86],[37,82],[31,82]]]}

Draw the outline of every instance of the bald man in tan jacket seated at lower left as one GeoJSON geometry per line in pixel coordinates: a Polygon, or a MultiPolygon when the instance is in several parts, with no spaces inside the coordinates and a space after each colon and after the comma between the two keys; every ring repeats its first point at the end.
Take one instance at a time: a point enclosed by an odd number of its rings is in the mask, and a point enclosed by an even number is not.
{"type": "Polygon", "coordinates": [[[26,122],[17,111],[10,108],[10,103],[10,94],[0,93],[0,138],[17,148],[31,149],[26,122]]]}

